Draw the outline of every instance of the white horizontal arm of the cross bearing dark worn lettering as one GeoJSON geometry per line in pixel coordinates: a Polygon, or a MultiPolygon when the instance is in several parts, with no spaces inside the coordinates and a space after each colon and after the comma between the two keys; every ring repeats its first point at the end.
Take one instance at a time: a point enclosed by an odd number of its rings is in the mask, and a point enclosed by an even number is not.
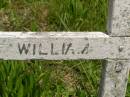
{"type": "Polygon", "coordinates": [[[129,59],[130,37],[102,32],[0,32],[0,59],[129,59]]]}

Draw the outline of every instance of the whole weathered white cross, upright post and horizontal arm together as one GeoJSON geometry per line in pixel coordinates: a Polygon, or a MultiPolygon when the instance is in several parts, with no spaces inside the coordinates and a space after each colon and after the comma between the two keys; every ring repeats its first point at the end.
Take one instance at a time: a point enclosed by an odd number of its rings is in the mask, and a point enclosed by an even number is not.
{"type": "Polygon", "coordinates": [[[0,32],[0,59],[103,59],[100,97],[125,97],[130,65],[130,0],[109,0],[108,34],[0,32]]]}

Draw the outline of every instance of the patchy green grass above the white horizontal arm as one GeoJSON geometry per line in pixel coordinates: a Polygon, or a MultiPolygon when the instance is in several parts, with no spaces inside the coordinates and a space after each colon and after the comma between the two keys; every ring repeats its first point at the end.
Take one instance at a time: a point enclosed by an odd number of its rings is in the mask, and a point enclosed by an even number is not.
{"type": "Polygon", "coordinates": [[[2,0],[3,31],[106,31],[108,0],[2,0]]]}

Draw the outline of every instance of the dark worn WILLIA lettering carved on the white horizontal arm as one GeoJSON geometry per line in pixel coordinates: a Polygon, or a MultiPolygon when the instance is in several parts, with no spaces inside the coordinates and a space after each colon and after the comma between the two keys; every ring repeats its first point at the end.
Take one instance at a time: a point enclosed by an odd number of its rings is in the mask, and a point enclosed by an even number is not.
{"type": "Polygon", "coordinates": [[[56,43],[50,43],[46,48],[44,43],[18,43],[18,52],[20,55],[76,55],[76,54],[87,54],[89,44],[74,47],[73,43],[62,43],[60,46],[56,46],[56,43]]]}

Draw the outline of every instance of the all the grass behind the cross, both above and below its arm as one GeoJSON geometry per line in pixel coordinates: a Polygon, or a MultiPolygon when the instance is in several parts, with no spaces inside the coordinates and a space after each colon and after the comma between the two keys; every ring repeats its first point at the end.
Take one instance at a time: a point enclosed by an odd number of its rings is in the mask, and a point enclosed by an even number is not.
{"type": "MultiPolygon", "coordinates": [[[[0,0],[0,31],[106,32],[107,10],[108,0],[0,0]]],[[[102,64],[1,60],[0,97],[97,97],[102,64]]]]}

